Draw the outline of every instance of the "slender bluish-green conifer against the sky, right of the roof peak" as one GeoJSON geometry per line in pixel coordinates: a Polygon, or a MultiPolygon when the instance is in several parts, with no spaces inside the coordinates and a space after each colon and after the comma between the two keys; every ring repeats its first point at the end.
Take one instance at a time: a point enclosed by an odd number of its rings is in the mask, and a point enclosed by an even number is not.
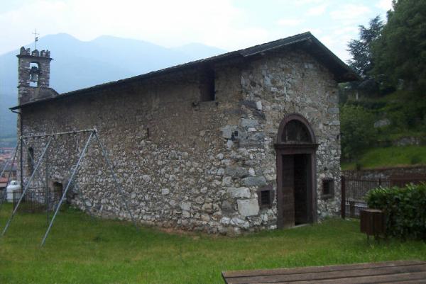
{"type": "Polygon", "coordinates": [[[349,66],[363,79],[369,79],[369,73],[373,69],[371,44],[380,37],[382,29],[383,21],[380,16],[376,16],[370,20],[368,28],[359,25],[359,40],[351,40],[348,44],[352,57],[349,66]]]}

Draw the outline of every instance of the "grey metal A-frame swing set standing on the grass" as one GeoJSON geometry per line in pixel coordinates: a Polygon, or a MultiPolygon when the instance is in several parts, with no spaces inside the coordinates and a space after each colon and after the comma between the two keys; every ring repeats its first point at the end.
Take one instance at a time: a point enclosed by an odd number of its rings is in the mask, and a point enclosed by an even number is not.
{"type": "MultiPolygon", "coordinates": [[[[87,138],[87,141],[84,144],[84,148],[82,149],[82,151],[79,154],[77,163],[71,167],[72,174],[71,174],[71,176],[70,176],[70,178],[69,178],[69,180],[67,182],[67,186],[65,187],[65,190],[62,193],[62,197],[60,198],[60,201],[59,201],[59,203],[58,203],[58,205],[57,205],[57,207],[55,209],[55,213],[53,214],[52,220],[50,220],[48,229],[46,230],[46,232],[44,234],[44,237],[43,237],[43,239],[42,239],[42,241],[40,243],[40,246],[43,246],[45,244],[46,239],[48,238],[48,234],[50,232],[50,229],[52,229],[52,227],[53,227],[53,222],[55,222],[55,218],[58,215],[58,212],[60,210],[60,206],[62,205],[63,201],[65,200],[65,198],[67,196],[67,192],[70,189],[70,187],[71,187],[71,185],[72,185],[72,183],[73,183],[73,181],[75,179],[75,176],[76,176],[78,170],[80,169],[80,165],[81,165],[82,161],[84,160],[84,157],[86,157],[87,149],[89,148],[89,145],[91,144],[92,140],[94,140],[94,142],[96,142],[99,145],[99,147],[101,149],[101,152],[102,152],[102,157],[104,157],[104,161],[107,163],[107,166],[109,168],[111,176],[112,176],[112,178],[114,180],[116,189],[119,192],[119,195],[121,196],[121,199],[123,200],[123,203],[124,203],[124,206],[126,208],[126,211],[129,212],[129,215],[131,217],[133,225],[136,227],[136,229],[138,229],[138,226],[136,224],[136,220],[133,217],[133,214],[132,214],[131,210],[129,210],[129,204],[127,203],[127,200],[126,200],[126,198],[124,196],[124,190],[121,187],[121,183],[119,183],[119,180],[118,180],[118,178],[117,178],[117,176],[115,174],[114,166],[111,164],[111,161],[108,159],[107,149],[104,147],[104,144],[102,144],[101,140],[99,139],[99,135],[97,133],[97,129],[94,128],[94,129],[89,129],[89,130],[79,130],[79,131],[70,131],[70,132],[58,132],[58,133],[53,133],[53,134],[49,134],[49,135],[30,135],[30,136],[21,136],[21,137],[19,137],[18,144],[16,144],[16,148],[15,148],[15,151],[14,151],[14,154],[13,154],[13,159],[12,159],[12,164],[11,164],[12,166],[13,166],[13,164],[15,162],[16,153],[18,152],[19,145],[21,144],[21,147],[22,147],[22,144],[24,144],[27,147],[27,145],[26,145],[26,143],[24,142],[23,139],[25,139],[25,138],[35,138],[35,137],[50,137],[50,139],[48,140],[48,143],[45,145],[42,154],[38,158],[38,161],[35,164],[35,167],[33,169],[33,172],[31,174],[30,178],[26,182],[26,185],[23,187],[23,191],[22,191],[22,194],[21,194],[21,196],[20,196],[20,198],[18,200],[18,203],[16,204],[15,208],[13,208],[11,216],[9,217],[9,220],[6,222],[6,225],[5,225],[4,229],[3,229],[3,231],[1,232],[1,236],[4,236],[4,234],[6,234],[6,231],[9,228],[9,225],[11,224],[11,221],[13,220],[13,217],[16,215],[16,212],[18,211],[18,208],[19,208],[19,205],[21,204],[21,201],[23,200],[25,194],[28,191],[28,188],[29,188],[31,182],[33,181],[35,173],[37,172],[38,176],[41,177],[41,174],[39,172],[40,165],[42,164],[43,159],[45,158],[45,154],[47,153],[47,151],[48,151],[48,149],[50,147],[50,144],[51,144],[51,142],[53,140],[53,137],[58,136],[58,135],[70,135],[70,134],[77,134],[77,133],[82,133],[82,132],[90,133],[89,137],[87,138]]],[[[22,159],[22,157],[21,157],[21,159],[22,159]]],[[[31,157],[31,160],[34,162],[34,160],[33,160],[32,157],[31,157]]],[[[6,162],[6,165],[4,166],[4,169],[1,172],[1,174],[3,174],[4,170],[6,169],[6,166],[7,166],[7,162],[6,162]]],[[[11,173],[9,172],[8,184],[9,184],[10,175],[11,175],[11,173]]],[[[47,183],[47,179],[46,179],[46,183],[47,183]]],[[[82,194],[82,191],[81,191],[80,187],[76,186],[75,188],[77,188],[77,191],[80,194],[80,198],[82,198],[82,203],[86,207],[86,205],[84,203],[83,194],[82,194]]],[[[1,198],[1,200],[0,200],[0,205],[4,202],[5,196],[6,196],[6,191],[4,193],[3,198],[1,198]]],[[[88,212],[92,216],[92,214],[90,213],[90,210],[88,210],[88,212]]]]}

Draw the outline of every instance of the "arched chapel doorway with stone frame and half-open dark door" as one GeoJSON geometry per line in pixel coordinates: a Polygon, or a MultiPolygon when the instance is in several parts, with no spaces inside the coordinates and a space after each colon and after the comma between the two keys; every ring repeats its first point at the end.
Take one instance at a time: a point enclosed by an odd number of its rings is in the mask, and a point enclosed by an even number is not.
{"type": "Polygon", "coordinates": [[[315,134],[297,113],[285,116],[275,143],[278,227],[293,227],[317,219],[315,134]]]}

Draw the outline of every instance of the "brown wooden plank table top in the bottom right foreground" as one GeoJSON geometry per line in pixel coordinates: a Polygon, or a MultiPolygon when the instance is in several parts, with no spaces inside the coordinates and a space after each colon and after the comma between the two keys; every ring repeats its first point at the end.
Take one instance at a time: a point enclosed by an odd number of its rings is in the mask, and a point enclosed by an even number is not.
{"type": "Polygon", "coordinates": [[[426,261],[388,261],[256,271],[224,271],[227,284],[426,283],[426,261]]]}

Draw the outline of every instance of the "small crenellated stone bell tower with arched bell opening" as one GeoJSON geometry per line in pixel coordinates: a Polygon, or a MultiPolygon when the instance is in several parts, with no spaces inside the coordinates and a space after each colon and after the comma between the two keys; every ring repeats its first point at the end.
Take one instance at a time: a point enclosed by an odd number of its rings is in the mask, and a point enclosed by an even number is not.
{"type": "Polygon", "coordinates": [[[31,50],[21,47],[18,57],[18,103],[37,101],[40,98],[56,96],[50,89],[50,51],[31,50]]]}

